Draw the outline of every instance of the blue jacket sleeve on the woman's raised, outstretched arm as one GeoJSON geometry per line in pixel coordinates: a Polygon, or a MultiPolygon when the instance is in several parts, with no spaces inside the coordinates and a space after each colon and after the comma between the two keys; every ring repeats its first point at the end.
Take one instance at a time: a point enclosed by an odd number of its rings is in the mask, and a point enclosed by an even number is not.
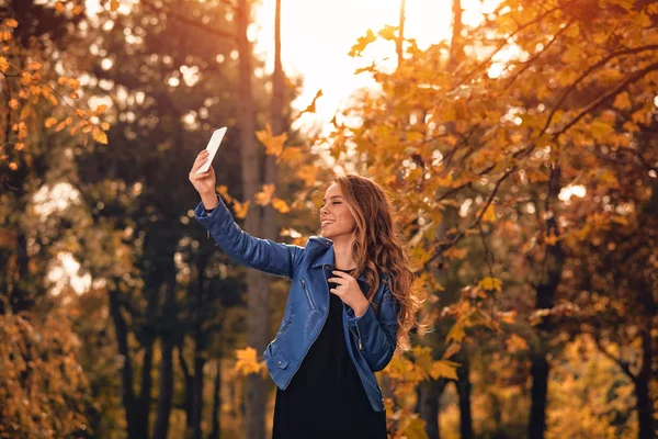
{"type": "Polygon", "coordinates": [[[216,196],[218,204],[209,214],[206,214],[203,202],[194,209],[196,221],[208,230],[216,245],[241,264],[292,279],[304,247],[249,235],[236,224],[222,196],[216,196]]]}

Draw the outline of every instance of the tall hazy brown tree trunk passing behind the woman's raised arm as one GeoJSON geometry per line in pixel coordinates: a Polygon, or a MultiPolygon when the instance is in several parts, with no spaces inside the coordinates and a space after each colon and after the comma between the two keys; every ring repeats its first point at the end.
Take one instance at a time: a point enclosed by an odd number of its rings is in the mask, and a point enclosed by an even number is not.
{"type": "MultiPolygon", "coordinates": [[[[262,181],[260,155],[256,144],[256,109],[251,91],[251,44],[247,38],[249,26],[249,2],[238,1],[237,27],[240,71],[240,161],[242,169],[242,195],[250,200],[262,181]]],[[[246,232],[262,236],[261,217],[258,206],[250,210],[245,221],[246,232]]],[[[268,344],[268,280],[262,273],[249,270],[247,273],[247,344],[261,352],[268,344]]],[[[264,414],[266,386],[260,374],[251,374],[246,380],[245,434],[247,439],[264,437],[264,414]]]]}

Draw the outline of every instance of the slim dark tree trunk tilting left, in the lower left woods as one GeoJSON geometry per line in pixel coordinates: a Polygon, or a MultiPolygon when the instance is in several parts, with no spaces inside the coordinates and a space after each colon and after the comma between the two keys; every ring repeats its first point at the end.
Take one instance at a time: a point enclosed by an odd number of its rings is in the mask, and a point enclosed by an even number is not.
{"type": "Polygon", "coordinates": [[[118,345],[118,354],[122,358],[121,372],[121,401],[126,413],[126,426],[128,439],[139,439],[137,429],[137,412],[135,410],[135,391],[133,390],[133,363],[128,350],[128,329],[126,320],[121,314],[121,303],[118,293],[110,291],[107,293],[110,300],[110,315],[114,323],[116,334],[116,344],[118,345]]]}

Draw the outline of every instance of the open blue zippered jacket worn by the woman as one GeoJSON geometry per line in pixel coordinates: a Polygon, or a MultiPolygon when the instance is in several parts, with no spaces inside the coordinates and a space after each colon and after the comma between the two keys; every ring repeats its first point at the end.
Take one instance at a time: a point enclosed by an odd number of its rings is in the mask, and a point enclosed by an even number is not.
{"type": "MultiPolygon", "coordinates": [[[[196,219],[216,245],[241,264],[292,280],[283,319],[276,336],[263,351],[270,376],[279,389],[285,390],[329,314],[331,293],[327,279],[333,277],[333,243],[311,236],[305,247],[299,247],[252,237],[235,223],[219,195],[217,200],[219,204],[211,214],[205,213],[203,203],[194,210],[196,219]]],[[[360,275],[358,281],[365,294],[364,277],[360,275]]],[[[393,357],[399,312],[385,274],[373,302],[378,313],[375,314],[368,303],[365,313],[359,317],[343,303],[343,329],[348,352],[371,405],[375,412],[383,412],[384,398],[374,372],[384,369],[393,357]]]]}

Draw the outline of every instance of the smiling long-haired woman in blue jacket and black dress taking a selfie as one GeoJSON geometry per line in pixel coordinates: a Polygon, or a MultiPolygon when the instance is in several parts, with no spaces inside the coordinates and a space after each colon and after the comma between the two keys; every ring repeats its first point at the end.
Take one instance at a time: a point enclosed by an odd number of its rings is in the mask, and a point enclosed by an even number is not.
{"type": "Polygon", "coordinates": [[[407,349],[420,301],[384,190],[337,177],[305,247],[252,237],[215,192],[215,172],[190,173],[198,223],[234,260],[292,280],[281,326],[263,351],[276,384],[273,438],[386,438],[375,372],[407,349]]]}

